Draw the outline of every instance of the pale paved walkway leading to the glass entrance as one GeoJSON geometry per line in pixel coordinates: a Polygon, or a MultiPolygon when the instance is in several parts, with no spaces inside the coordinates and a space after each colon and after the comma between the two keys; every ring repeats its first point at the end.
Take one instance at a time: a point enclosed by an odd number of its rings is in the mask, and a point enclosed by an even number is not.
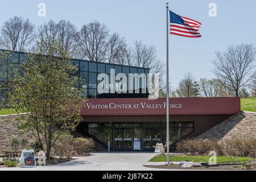
{"type": "Polygon", "coordinates": [[[0,168],[2,170],[81,170],[81,171],[150,171],[159,170],[156,168],[143,167],[154,153],[134,153],[134,152],[120,152],[120,153],[94,153],[92,156],[78,158],[71,162],[57,164],[53,166],[39,166],[36,168],[0,168]]]}

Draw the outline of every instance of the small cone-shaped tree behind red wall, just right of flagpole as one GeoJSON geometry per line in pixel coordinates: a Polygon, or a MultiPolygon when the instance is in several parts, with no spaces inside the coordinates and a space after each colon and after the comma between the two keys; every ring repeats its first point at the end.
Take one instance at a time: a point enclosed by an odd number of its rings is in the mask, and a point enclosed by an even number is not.
{"type": "Polygon", "coordinates": [[[199,84],[193,78],[191,72],[185,74],[185,77],[179,82],[176,90],[179,97],[197,97],[199,96],[199,84]]]}

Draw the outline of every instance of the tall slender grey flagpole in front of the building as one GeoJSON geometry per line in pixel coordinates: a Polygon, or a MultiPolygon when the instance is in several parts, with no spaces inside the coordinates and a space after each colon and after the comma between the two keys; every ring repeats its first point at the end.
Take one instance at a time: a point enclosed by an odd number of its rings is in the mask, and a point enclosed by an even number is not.
{"type": "Polygon", "coordinates": [[[169,7],[166,3],[166,146],[167,146],[167,163],[170,163],[170,146],[169,146],[169,7]]]}

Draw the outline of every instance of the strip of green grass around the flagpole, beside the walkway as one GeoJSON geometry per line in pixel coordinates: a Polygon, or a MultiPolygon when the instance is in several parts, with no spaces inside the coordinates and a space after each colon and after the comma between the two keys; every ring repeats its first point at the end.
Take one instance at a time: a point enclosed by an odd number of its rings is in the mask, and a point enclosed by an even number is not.
{"type": "MultiPolygon", "coordinates": [[[[155,156],[150,159],[150,162],[166,162],[167,156],[155,156]]],[[[170,156],[171,162],[179,162],[179,161],[190,161],[190,162],[209,162],[210,156],[170,156]]],[[[217,163],[229,163],[229,162],[247,162],[250,160],[254,160],[253,158],[245,158],[245,157],[237,157],[230,158],[229,156],[217,156],[217,163]]]]}

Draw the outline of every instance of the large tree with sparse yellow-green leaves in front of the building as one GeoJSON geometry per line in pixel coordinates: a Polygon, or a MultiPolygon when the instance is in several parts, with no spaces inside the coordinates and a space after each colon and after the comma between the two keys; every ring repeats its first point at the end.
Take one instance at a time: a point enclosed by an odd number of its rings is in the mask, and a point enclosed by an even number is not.
{"type": "Polygon", "coordinates": [[[23,113],[22,128],[31,131],[51,156],[51,148],[63,131],[75,130],[84,105],[77,68],[66,51],[49,47],[49,54],[28,54],[11,89],[13,106],[23,113]],[[54,57],[59,51],[60,57],[54,57]]]}

